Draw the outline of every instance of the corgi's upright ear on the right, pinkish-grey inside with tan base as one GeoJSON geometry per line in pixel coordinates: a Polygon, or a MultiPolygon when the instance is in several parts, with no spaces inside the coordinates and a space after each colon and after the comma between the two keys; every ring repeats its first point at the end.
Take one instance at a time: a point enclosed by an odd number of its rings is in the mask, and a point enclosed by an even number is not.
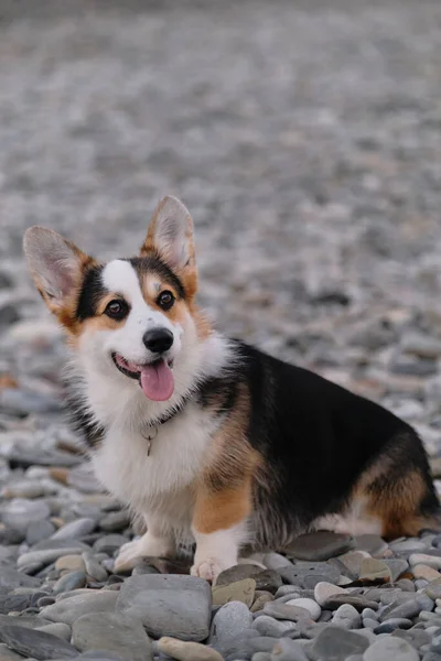
{"type": "Polygon", "coordinates": [[[180,275],[187,293],[194,294],[197,272],[193,220],[182,202],[171,195],[163,197],[154,210],[141,256],[152,251],[180,275]]]}

